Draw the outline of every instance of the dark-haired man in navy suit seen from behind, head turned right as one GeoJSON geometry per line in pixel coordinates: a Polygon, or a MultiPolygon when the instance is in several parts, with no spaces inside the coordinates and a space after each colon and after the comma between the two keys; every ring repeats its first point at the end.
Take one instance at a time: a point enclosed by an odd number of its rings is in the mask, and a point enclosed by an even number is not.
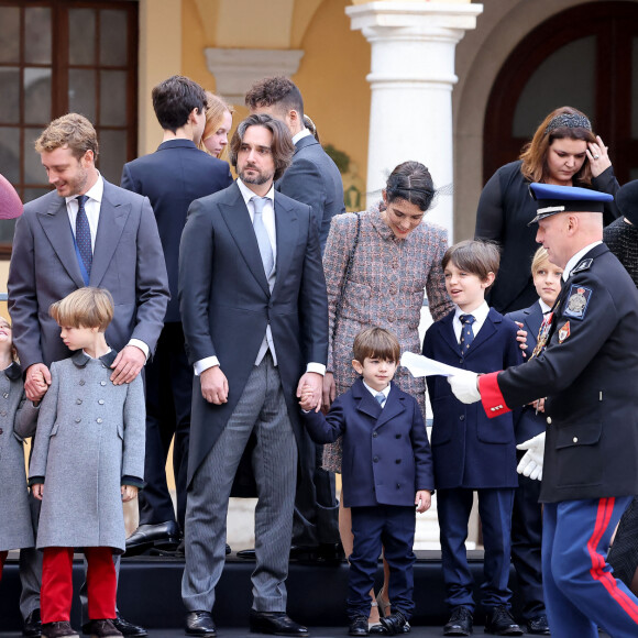
{"type": "Polygon", "coordinates": [[[229,166],[197,147],[206,124],[206,92],[173,76],[153,89],[153,108],[164,139],[155,153],[124,165],[122,187],[151,200],[164,249],[170,301],[155,356],[146,366],[146,457],[140,492],[140,527],[127,539],[127,554],[153,544],[175,546],[184,534],[193,369],[184,350],[177,299],[179,239],[190,202],[232,184],[229,166]],[[170,441],[177,491],[177,521],[166,483],[170,441]]]}

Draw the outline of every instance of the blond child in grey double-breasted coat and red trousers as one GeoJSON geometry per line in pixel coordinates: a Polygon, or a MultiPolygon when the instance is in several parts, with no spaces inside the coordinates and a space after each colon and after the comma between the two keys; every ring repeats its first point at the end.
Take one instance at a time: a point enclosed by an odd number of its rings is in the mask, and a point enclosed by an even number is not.
{"type": "Polygon", "coordinates": [[[42,636],[77,636],[70,627],[73,552],[88,563],[89,634],[121,636],[116,618],[113,553],[125,549],[122,502],[144,485],[144,391],[140,376],[113,385],[117,353],[105,340],[113,317],[108,290],[80,288],[52,305],[70,359],[51,367],[30,466],[42,499],[36,547],[43,550],[42,636]]]}

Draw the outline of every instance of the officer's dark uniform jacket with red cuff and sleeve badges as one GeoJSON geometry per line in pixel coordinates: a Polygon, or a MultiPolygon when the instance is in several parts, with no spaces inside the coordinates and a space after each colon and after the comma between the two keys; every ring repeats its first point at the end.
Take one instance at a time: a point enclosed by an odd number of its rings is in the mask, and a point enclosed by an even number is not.
{"type": "Polygon", "coordinates": [[[638,290],[605,244],[572,271],[538,359],[481,378],[487,414],[547,397],[540,501],[638,494],[638,290]],[[493,409],[494,408],[494,409],[493,409]]]}

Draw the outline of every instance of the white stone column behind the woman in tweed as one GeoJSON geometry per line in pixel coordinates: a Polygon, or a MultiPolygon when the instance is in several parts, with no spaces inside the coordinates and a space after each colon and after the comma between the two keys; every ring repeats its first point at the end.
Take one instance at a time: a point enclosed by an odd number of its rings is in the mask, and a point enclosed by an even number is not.
{"type": "MultiPolygon", "coordinates": [[[[454,50],[482,11],[468,0],[385,0],[345,9],[351,28],[372,46],[369,193],[383,188],[407,160],[422,162],[437,187],[452,185],[454,50]]],[[[452,195],[442,195],[428,218],[448,229],[451,242],[452,195]]]]}

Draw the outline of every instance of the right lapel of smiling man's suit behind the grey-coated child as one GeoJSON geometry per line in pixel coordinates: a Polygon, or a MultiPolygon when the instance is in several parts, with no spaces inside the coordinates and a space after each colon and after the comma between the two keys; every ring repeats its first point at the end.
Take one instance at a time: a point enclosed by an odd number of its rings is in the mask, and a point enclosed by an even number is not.
{"type": "Polygon", "coordinates": [[[113,254],[120,243],[122,231],[129,219],[131,205],[118,201],[116,188],[105,179],[105,193],[100,205],[100,217],[96,246],[94,249],[94,262],[89,284],[99,286],[107,273],[107,268],[113,258],[113,254]]]}

